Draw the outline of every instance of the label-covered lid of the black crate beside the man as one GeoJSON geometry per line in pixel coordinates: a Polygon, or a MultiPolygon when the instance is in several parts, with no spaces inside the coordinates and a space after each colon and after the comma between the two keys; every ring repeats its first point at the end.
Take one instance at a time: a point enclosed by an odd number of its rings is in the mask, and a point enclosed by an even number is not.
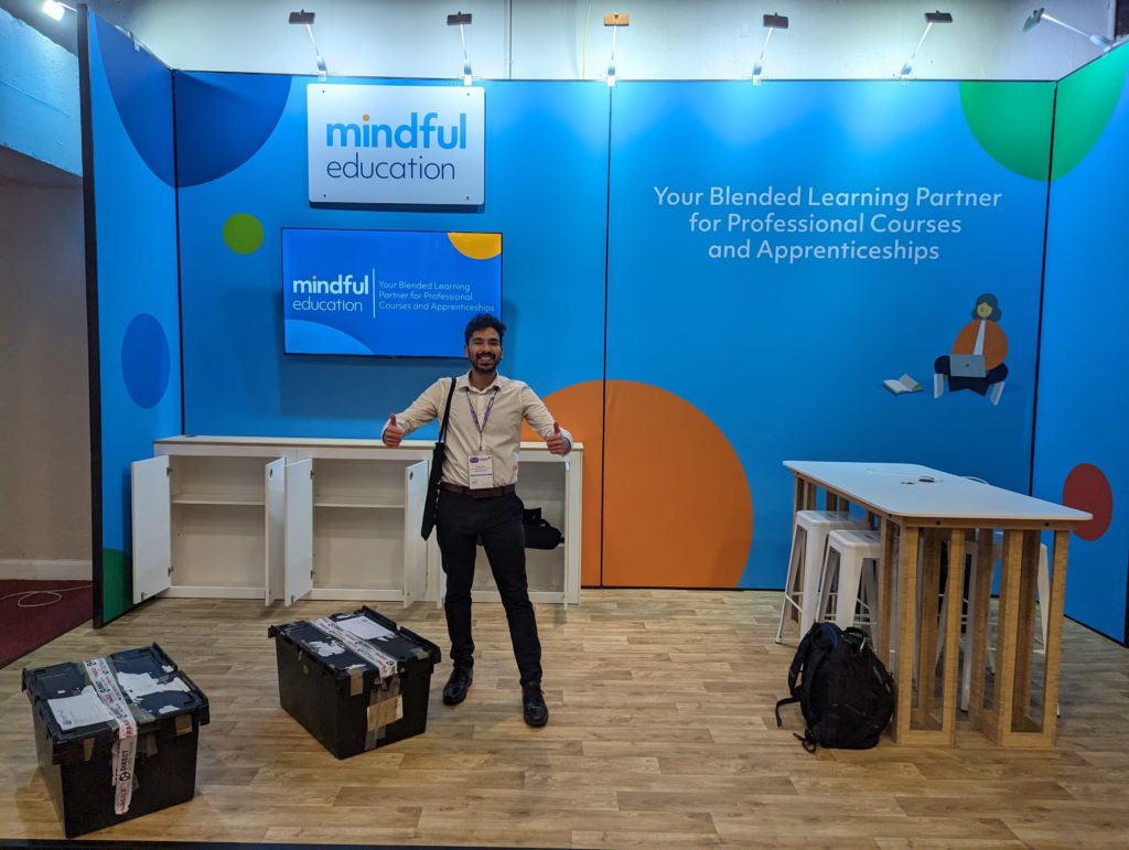
{"type": "Polygon", "coordinates": [[[439,648],[395,621],[364,606],[351,613],[272,625],[271,638],[300,648],[338,677],[376,671],[382,678],[414,660],[439,660],[439,648]]]}

